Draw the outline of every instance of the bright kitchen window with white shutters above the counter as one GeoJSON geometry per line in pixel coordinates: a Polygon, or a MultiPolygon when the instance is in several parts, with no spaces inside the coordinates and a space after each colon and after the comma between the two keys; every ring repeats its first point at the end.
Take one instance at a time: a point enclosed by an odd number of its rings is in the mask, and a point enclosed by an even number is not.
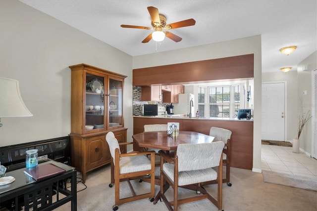
{"type": "Polygon", "coordinates": [[[239,108],[239,84],[198,87],[198,112],[200,117],[236,117],[239,108]]]}

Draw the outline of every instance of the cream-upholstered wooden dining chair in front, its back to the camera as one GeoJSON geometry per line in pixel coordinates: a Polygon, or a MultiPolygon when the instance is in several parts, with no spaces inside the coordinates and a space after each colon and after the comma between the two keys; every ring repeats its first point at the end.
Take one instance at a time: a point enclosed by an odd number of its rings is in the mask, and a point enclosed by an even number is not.
{"type": "Polygon", "coordinates": [[[222,149],[224,143],[179,144],[175,158],[165,152],[161,155],[160,197],[170,211],[177,211],[178,205],[202,199],[209,199],[219,210],[222,209],[222,149]],[[167,163],[166,163],[166,162],[167,163]],[[212,169],[218,167],[218,171],[212,169]],[[216,181],[216,199],[201,185],[206,181],[216,181]],[[168,201],[165,191],[173,188],[173,200],[168,201]],[[178,199],[178,188],[196,190],[200,195],[178,199]]]}

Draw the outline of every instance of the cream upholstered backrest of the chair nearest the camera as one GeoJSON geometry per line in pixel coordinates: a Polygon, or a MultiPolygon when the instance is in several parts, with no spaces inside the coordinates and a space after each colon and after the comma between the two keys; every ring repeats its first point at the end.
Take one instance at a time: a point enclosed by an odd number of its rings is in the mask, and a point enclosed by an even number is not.
{"type": "Polygon", "coordinates": [[[219,166],[224,143],[179,144],[178,171],[209,169],[219,166]]]}

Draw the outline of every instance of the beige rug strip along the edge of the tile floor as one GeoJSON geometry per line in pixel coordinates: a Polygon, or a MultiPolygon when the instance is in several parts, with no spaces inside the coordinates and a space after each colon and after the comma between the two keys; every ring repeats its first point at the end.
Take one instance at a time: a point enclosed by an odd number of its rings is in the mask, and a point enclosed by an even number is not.
{"type": "Polygon", "coordinates": [[[317,191],[317,180],[313,177],[262,170],[264,182],[294,188],[317,191]]]}

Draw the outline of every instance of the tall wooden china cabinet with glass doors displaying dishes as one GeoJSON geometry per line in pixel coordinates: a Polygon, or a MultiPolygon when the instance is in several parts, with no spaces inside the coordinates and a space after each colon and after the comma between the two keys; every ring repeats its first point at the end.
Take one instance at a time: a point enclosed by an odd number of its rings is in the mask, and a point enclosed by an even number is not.
{"type": "MultiPolygon", "coordinates": [[[[86,173],[110,163],[106,133],[126,142],[123,87],[126,76],[87,64],[71,69],[71,166],[86,173]]],[[[122,152],[126,148],[122,147],[122,152]]]]}

